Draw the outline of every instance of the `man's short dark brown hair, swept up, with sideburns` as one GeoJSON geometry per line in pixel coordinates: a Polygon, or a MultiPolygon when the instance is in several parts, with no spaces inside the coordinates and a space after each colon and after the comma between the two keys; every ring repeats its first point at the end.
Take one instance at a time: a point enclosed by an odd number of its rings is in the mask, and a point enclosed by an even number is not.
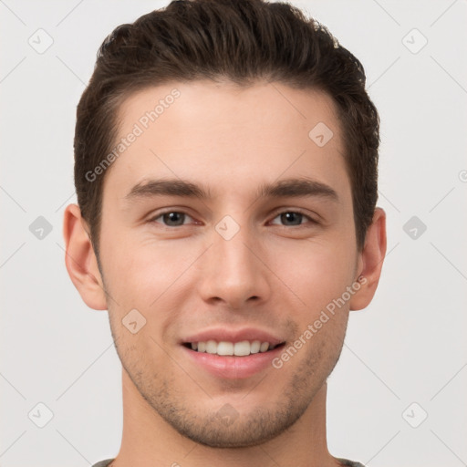
{"type": "MultiPolygon", "coordinates": [[[[296,7],[264,0],[177,0],[118,26],[99,48],[78,103],[75,186],[99,259],[104,175],[89,181],[114,146],[130,93],[171,81],[258,80],[325,91],[337,104],[352,187],[358,249],[378,199],[379,115],[358,58],[296,7]]],[[[310,129],[311,130],[311,129],[310,129]]]]}

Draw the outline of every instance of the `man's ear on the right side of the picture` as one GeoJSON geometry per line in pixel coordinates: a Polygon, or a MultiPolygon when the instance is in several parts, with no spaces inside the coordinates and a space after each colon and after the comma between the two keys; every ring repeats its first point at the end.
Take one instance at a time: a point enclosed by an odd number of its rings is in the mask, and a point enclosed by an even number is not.
{"type": "Polygon", "coordinates": [[[386,243],[386,213],[381,208],[376,208],[367,230],[365,245],[358,257],[357,278],[361,277],[358,281],[361,287],[350,299],[351,310],[361,310],[373,299],[386,254],[386,243]]]}

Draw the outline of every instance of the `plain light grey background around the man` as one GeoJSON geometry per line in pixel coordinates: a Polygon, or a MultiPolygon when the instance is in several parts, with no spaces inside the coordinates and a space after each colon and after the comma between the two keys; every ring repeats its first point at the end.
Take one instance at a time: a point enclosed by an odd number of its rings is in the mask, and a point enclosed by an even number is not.
{"type": "MultiPolygon", "coordinates": [[[[363,62],[381,117],[389,253],[329,379],[329,450],[370,467],[467,465],[467,2],[293,4],[363,62]],[[412,216],[424,233],[404,231],[412,216]]],[[[76,200],[75,111],[97,49],[163,5],[0,1],[3,467],[84,467],[119,451],[119,358],[107,312],[88,309],[67,276],[62,217],[76,200]],[[53,413],[44,428],[39,402],[53,413]]]]}

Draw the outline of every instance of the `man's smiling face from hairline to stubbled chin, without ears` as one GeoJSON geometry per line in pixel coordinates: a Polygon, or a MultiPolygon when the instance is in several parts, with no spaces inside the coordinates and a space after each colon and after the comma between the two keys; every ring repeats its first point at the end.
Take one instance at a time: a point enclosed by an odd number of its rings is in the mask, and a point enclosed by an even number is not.
{"type": "Polygon", "coordinates": [[[137,136],[105,174],[99,245],[123,368],[193,441],[271,439],[334,368],[348,301],[329,305],[359,272],[332,100],[197,81],[119,110],[119,139],[137,136]]]}

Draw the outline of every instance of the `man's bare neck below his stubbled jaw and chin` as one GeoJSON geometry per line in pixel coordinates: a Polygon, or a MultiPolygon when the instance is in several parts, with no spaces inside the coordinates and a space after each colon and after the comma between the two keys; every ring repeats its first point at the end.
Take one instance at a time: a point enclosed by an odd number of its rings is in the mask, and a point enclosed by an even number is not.
{"type": "Polygon", "coordinates": [[[305,413],[273,440],[244,448],[211,448],[198,444],[175,431],[156,413],[122,370],[123,434],[119,455],[111,467],[172,466],[257,467],[290,465],[324,467],[338,465],[327,451],[325,383],[305,413]]]}

